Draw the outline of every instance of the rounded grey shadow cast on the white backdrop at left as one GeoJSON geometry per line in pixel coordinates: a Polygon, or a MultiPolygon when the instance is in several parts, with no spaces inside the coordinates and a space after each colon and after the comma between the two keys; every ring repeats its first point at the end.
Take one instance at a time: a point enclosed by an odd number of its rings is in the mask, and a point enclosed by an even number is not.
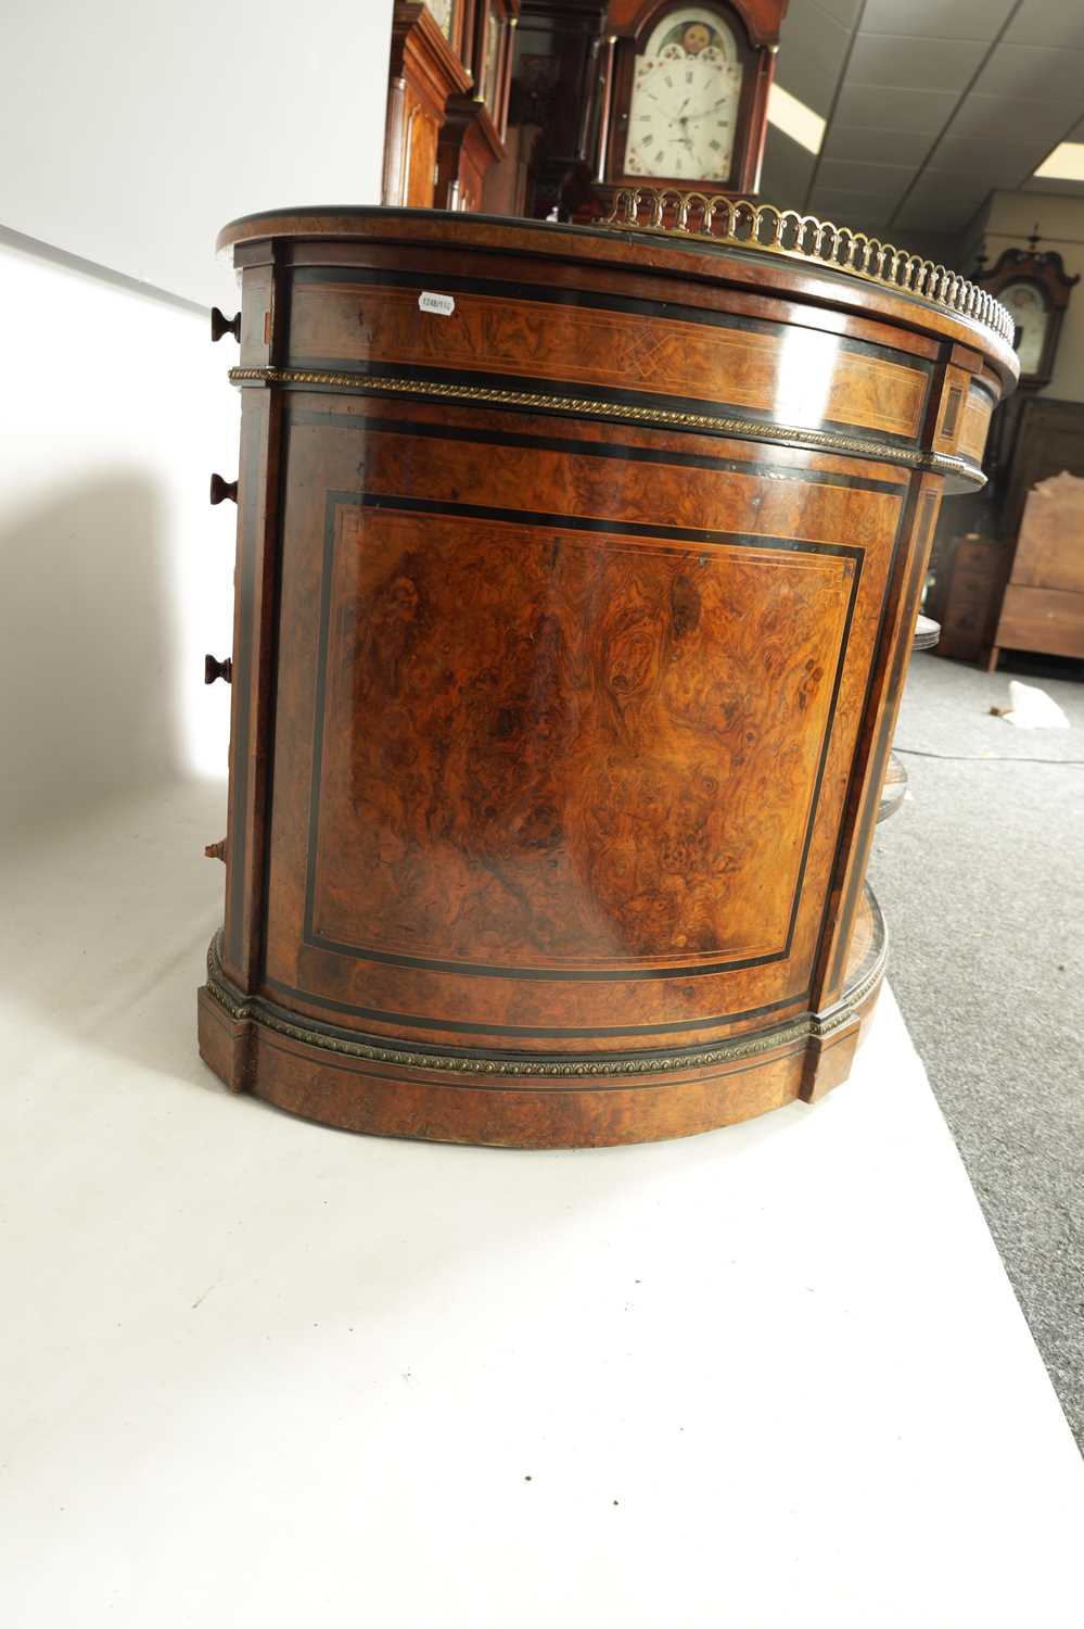
{"type": "Polygon", "coordinates": [[[176,775],[163,500],[137,471],[73,485],[0,533],[0,828],[176,775]]]}

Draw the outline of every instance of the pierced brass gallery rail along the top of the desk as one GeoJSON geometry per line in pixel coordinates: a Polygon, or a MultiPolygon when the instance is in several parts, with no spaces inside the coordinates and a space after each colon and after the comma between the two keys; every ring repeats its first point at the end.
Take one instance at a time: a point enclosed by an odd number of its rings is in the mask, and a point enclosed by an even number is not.
{"type": "Polygon", "coordinates": [[[1012,344],[1012,318],[993,295],[959,272],[897,249],[864,231],[835,226],[815,215],[780,210],[775,204],[750,204],[723,194],[679,192],[674,187],[622,187],[601,226],[618,231],[653,231],[697,243],[732,244],[807,261],[822,270],[846,272],[895,293],[913,295],[957,316],[972,318],[1012,344]],[[669,220],[667,220],[669,215],[669,220]]]}

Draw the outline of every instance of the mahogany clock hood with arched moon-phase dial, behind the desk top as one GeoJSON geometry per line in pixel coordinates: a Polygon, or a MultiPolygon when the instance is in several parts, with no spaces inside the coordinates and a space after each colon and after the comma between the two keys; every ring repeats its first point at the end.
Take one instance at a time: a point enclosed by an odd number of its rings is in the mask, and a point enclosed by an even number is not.
{"type": "Polygon", "coordinates": [[[612,0],[597,194],[755,192],[786,0],[612,0]]]}

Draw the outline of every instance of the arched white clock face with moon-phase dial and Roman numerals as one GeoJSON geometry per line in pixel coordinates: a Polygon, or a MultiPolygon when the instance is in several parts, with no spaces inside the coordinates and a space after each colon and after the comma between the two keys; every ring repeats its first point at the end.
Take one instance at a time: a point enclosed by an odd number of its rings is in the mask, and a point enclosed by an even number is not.
{"type": "Polygon", "coordinates": [[[705,7],[671,11],[633,67],[625,174],[726,181],[741,93],[723,18],[705,7]]]}

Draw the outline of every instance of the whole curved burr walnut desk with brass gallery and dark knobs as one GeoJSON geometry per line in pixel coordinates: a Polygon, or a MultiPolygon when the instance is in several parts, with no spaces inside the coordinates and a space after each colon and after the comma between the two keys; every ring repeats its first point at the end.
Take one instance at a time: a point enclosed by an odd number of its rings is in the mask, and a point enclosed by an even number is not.
{"type": "Polygon", "coordinates": [[[334,1126],[519,1147],[843,1080],[929,542],[981,484],[1006,314],[721,199],[591,228],[288,210],[220,246],[207,1062],[334,1126]]]}

